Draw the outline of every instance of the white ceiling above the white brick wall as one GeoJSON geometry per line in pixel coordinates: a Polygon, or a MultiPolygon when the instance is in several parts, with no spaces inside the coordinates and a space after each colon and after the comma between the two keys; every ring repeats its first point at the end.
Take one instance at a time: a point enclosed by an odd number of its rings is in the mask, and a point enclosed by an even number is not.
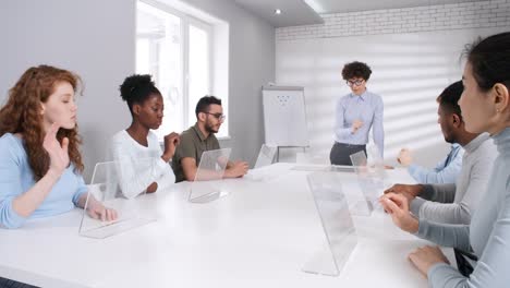
{"type": "MultiPolygon", "coordinates": [[[[324,23],[319,14],[411,8],[484,0],[234,0],[275,27],[324,23]],[[280,15],[275,14],[280,9],[280,15]]],[[[486,0],[485,0],[486,1],[486,0]]]]}

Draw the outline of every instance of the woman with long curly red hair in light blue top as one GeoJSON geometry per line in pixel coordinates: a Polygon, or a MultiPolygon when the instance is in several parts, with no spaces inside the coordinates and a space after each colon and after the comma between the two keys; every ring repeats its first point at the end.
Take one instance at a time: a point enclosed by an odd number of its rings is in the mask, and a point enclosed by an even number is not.
{"type": "MultiPolygon", "coordinates": [[[[39,65],[10,89],[0,109],[0,227],[19,228],[29,218],[85,206],[74,101],[78,87],[77,75],[39,65]]],[[[117,218],[92,195],[87,213],[117,218]]]]}

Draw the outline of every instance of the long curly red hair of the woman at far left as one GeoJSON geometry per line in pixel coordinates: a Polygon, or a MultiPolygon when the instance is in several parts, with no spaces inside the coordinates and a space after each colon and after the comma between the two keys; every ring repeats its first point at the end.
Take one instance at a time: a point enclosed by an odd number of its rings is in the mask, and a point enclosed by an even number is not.
{"type": "MultiPolygon", "coordinates": [[[[14,87],[9,91],[9,99],[0,109],[0,136],[5,133],[23,135],[28,163],[37,181],[46,175],[49,168],[48,153],[42,148],[45,131],[42,129],[41,103],[54,93],[59,83],[68,82],[75,93],[82,86],[78,75],[50,65],[32,67],[23,73],[14,87]]],[[[75,172],[83,171],[82,155],[78,146],[82,140],[74,129],[61,128],[57,133],[60,143],[69,139],[69,158],[75,167],[75,172]]]]}

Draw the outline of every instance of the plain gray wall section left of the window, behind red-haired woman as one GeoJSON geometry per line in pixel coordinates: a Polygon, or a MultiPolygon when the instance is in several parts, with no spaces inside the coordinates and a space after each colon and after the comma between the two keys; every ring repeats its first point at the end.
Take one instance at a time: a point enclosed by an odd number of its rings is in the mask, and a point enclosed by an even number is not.
{"type": "Polygon", "coordinates": [[[78,100],[78,125],[87,179],[104,159],[108,137],[130,120],[118,86],[134,71],[134,0],[0,3],[1,103],[31,65],[80,74],[85,92],[78,100]]]}

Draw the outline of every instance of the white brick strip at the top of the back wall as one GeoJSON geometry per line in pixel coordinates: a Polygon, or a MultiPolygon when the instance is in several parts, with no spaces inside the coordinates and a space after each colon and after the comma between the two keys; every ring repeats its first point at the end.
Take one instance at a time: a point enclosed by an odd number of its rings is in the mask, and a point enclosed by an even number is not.
{"type": "Polygon", "coordinates": [[[323,14],[325,23],[276,29],[276,40],[510,27],[510,0],[323,14]]]}

